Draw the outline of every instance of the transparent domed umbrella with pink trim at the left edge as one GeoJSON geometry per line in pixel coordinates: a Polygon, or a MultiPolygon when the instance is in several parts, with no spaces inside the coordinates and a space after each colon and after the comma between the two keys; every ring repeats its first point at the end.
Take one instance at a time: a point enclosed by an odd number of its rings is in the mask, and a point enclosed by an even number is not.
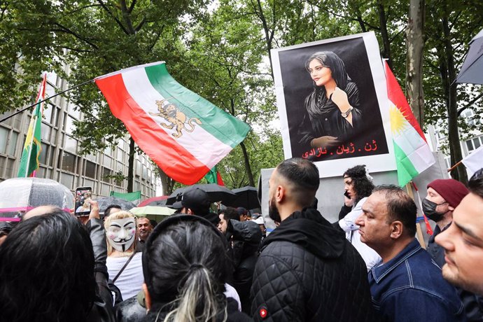
{"type": "Polygon", "coordinates": [[[20,221],[25,211],[48,204],[70,211],[73,193],[50,179],[12,178],[0,183],[0,221],[20,221]]]}

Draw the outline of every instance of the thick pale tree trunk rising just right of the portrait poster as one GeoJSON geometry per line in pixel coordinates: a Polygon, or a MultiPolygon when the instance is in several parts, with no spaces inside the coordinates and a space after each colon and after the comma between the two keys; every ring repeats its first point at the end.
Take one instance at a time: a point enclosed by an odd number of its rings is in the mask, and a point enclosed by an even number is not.
{"type": "Polygon", "coordinates": [[[423,94],[424,0],[409,1],[407,24],[406,92],[409,106],[421,128],[424,124],[423,94]]]}

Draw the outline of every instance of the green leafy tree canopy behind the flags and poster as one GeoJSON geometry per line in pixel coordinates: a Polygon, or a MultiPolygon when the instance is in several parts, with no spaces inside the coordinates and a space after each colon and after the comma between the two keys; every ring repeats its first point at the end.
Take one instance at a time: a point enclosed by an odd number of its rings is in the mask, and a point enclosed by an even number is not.
{"type": "MultiPolygon", "coordinates": [[[[244,143],[218,168],[230,188],[253,184],[262,167],[283,158],[270,50],[374,31],[382,57],[404,87],[408,6],[388,0],[2,1],[0,91],[11,94],[0,109],[30,102],[32,84],[45,69],[77,84],[165,60],[181,84],[251,125],[244,143]],[[71,66],[67,73],[63,64],[71,66]]],[[[419,115],[426,124],[447,119],[452,163],[461,159],[458,139],[475,126],[461,113],[482,113],[481,87],[453,83],[483,25],[482,6],[477,0],[426,1],[425,106],[419,115]]],[[[94,85],[73,90],[69,98],[85,116],[76,131],[85,151],[115,144],[125,134],[94,85]]],[[[168,190],[174,187],[169,178],[162,181],[168,190]]]]}

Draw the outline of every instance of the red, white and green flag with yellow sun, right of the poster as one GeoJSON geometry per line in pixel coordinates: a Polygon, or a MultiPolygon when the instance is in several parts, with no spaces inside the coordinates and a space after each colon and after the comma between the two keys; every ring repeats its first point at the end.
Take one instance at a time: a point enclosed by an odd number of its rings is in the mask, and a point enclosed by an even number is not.
{"type": "Polygon", "coordinates": [[[435,158],[426,143],[421,127],[407,104],[398,80],[395,79],[386,62],[384,62],[384,69],[386,69],[389,115],[396,166],[398,167],[398,181],[400,186],[405,186],[415,176],[433,165],[435,158]]]}

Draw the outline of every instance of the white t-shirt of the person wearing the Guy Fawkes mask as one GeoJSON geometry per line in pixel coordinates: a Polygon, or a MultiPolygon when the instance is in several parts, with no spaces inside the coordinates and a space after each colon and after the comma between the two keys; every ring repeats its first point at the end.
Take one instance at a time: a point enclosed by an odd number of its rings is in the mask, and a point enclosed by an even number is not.
{"type": "MultiPolygon", "coordinates": [[[[108,257],[106,260],[109,279],[114,279],[129,257],[108,257]]],[[[144,283],[142,253],[135,253],[132,260],[119,275],[114,285],[118,286],[123,300],[136,296],[144,283]]]]}

